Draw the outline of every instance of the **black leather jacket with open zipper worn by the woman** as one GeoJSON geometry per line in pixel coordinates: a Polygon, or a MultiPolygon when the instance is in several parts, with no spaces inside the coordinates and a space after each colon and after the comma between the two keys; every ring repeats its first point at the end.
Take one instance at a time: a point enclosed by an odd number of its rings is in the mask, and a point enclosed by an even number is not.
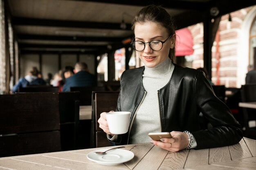
{"type": "MultiPolygon", "coordinates": [[[[113,145],[128,144],[137,109],[146,96],[142,84],[144,66],[124,71],[116,111],[130,111],[129,130],[118,135],[113,145]]],[[[153,84],[152,84],[153,86],[153,84]]],[[[190,131],[197,142],[196,149],[228,146],[238,143],[243,133],[229,108],[213,93],[204,73],[175,64],[170,81],[158,90],[162,132],[190,131]],[[213,128],[200,130],[198,116],[207,117],[213,128]]]]}

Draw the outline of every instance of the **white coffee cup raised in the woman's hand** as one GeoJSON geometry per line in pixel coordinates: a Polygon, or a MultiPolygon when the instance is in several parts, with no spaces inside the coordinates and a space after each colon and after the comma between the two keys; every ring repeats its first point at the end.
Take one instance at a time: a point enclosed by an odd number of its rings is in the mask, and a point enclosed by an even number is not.
{"type": "Polygon", "coordinates": [[[108,128],[112,134],[124,134],[128,132],[130,112],[106,113],[108,128]]]}

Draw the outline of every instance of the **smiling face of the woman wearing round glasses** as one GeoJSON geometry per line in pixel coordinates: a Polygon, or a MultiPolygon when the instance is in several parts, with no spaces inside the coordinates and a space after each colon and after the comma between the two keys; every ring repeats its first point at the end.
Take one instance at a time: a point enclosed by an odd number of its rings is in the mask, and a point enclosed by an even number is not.
{"type": "MultiPolygon", "coordinates": [[[[149,42],[152,40],[166,40],[170,35],[166,28],[159,23],[143,22],[135,24],[135,41],[149,42]]],[[[140,60],[149,68],[153,68],[168,58],[170,48],[175,45],[175,38],[172,36],[163,44],[160,51],[153,51],[148,44],[146,44],[143,51],[136,51],[140,60]]]]}

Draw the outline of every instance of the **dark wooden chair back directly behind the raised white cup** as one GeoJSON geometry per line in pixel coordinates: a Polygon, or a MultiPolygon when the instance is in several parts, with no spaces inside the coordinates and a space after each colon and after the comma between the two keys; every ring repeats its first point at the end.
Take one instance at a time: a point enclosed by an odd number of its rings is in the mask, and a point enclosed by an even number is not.
{"type": "Polygon", "coordinates": [[[95,111],[92,113],[92,135],[91,135],[91,147],[105,147],[111,146],[106,137],[106,133],[99,128],[98,119],[102,112],[108,112],[115,110],[117,107],[117,99],[119,92],[94,92],[95,93],[95,111]]]}

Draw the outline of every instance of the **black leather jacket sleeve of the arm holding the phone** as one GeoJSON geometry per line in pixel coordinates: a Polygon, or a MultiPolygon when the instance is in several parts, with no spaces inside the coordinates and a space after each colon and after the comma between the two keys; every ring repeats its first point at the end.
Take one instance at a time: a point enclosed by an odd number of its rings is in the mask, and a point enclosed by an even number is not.
{"type": "Polygon", "coordinates": [[[191,132],[197,142],[195,149],[237,144],[243,138],[241,126],[229,108],[216,97],[202,73],[196,77],[194,92],[198,107],[213,126],[207,130],[191,132]]]}

